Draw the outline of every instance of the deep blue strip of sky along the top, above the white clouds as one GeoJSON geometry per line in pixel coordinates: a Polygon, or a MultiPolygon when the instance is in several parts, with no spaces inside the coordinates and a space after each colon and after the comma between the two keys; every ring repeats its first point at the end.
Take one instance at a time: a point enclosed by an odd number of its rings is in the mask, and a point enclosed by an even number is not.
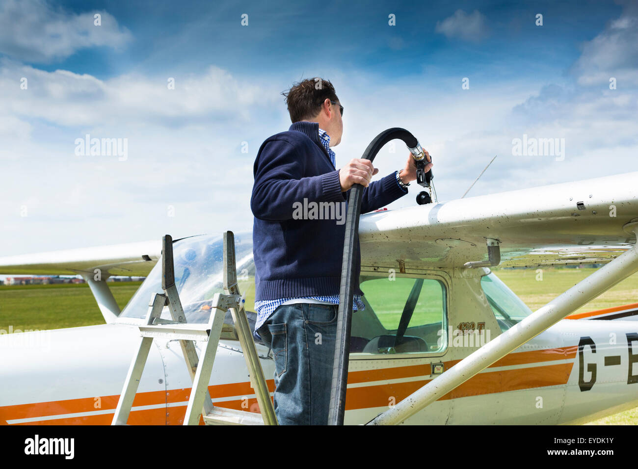
{"type": "MultiPolygon", "coordinates": [[[[408,77],[430,66],[449,73],[482,70],[489,62],[507,63],[505,77],[516,77],[517,68],[544,56],[544,66],[564,67],[565,60],[580,54],[579,43],[593,39],[608,20],[618,17],[622,6],[611,2],[395,2],[242,3],[242,2],[61,2],[66,11],[91,13],[106,10],[133,37],[130,47],[78,50],[73,56],[43,66],[64,68],[104,79],[131,70],[202,72],[208,64],[223,64],[231,73],[247,70],[279,74],[273,62],[295,61],[292,70],[315,71],[322,57],[339,68],[365,68],[390,79],[408,77]],[[449,40],[433,34],[437,22],[456,10],[471,13],[480,6],[487,31],[480,43],[449,40]],[[503,8],[507,6],[507,8],[503,8]],[[211,8],[213,7],[213,8],[211,8]],[[535,26],[542,11],[544,27],[535,26]],[[240,25],[242,13],[248,27],[240,25]],[[387,13],[397,17],[389,27],[387,13]],[[318,32],[323,31],[318,37],[318,32]],[[320,46],[318,45],[320,42],[320,46]],[[170,65],[169,65],[170,64],[170,65]],[[168,66],[168,67],[167,67],[168,66]],[[265,69],[265,70],[264,70],[265,69]]],[[[544,68],[544,67],[543,67],[544,68]]]]}

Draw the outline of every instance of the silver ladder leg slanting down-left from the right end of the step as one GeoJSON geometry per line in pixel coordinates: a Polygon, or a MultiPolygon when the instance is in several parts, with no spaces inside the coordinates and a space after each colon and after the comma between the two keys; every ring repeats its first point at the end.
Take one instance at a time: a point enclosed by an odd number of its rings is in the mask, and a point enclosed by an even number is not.
{"type": "Polygon", "coordinates": [[[211,334],[206,341],[204,351],[202,352],[202,359],[199,361],[195,376],[193,377],[193,387],[191,388],[191,395],[188,399],[186,415],[184,415],[184,425],[197,425],[202,412],[208,415],[212,411],[212,400],[208,392],[208,383],[211,380],[212,365],[215,361],[219,337],[221,336],[221,329],[224,325],[225,311],[215,308],[211,315],[213,316],[211,323],[209,323],[211,324],[211,334]],[[207,408],[206,403],[210,404],[210,408],[207,408]]]}

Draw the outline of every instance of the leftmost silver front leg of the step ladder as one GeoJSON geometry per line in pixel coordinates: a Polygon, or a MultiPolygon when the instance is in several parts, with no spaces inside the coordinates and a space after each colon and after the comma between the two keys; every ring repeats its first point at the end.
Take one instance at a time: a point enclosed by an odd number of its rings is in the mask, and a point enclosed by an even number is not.
{"type": "MultiPolygon", "coordinates": [[[[155,318],[159,318],[159,316],[161,316],[161,310],[165,304],[165,295],[157,293],[152,296],[151,304],[149,304],[149,311],[146,315],[147,325],[151,325],[155,318]]],[[[128,415],[131,413],[135,394],[137,394],[137,387],[140,384],[140,379],[142,378],[144,366],[149,357],[149,351],[151,350],[152,343],[152,337],[143,337],[140,341],[137,355],[135,355],[135,358],[131,362],[131,366],[128,368],[126,380],[124,380],[124,389],[117,401],[117,407],[115,408],[115,414],[113,415],[111,425],[126,425],[128,415]]]]}

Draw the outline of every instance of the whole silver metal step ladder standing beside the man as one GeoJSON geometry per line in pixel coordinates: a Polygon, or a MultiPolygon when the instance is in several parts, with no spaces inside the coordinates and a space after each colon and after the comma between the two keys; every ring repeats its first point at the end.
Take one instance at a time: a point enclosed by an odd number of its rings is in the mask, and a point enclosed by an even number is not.
{"type": "Polygon", "coordinates": [[[193,380],[184,425],[197,425],[200,415],[207,425],[277,425],[271,396],[263,377],[255,342],[253,341],[246,311],[237,286],[235,269],[235,236],[227,231],[223,235],[224,265],[223,287],[225,294],[215,294],[212,299],[211,317],[207,324],[189,324],[175,287],[175,267],[173,264],[173,240],[170,235],[162,238],[162,290],[164,294],[152,295],[151,304],[144,325],[140,325],[142,341],[137,355],[128,369],[124,388],[120,394],[112,425],[126,425],[133,406],[133,399],[142,378],[142,372],[151,350],[154,338],[179,340],[188,372],[193,380]],[[161,319],[161,311],[168,306],[172,320],[161,319]],[[235,330],[241,343],[244,359],[250,375],[251,387],[255,391],[260,413],[233,410],[212,405],[208,392],[212,365],[219,344],[226,311],[235,323],[235,330]],[[205,342],[202,357],[197,356],[195,341],[205,342]],[[201,360],[199,360],[201,358],[201,360]]]}

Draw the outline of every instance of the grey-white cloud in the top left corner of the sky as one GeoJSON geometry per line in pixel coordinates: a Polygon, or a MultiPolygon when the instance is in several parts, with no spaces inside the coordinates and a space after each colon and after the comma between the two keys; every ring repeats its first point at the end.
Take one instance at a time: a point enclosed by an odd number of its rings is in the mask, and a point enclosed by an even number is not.
{"type": "Polygon", "coordinates": [[[121,48],[133,36],[107,11],[67,13],[45,0],[0,2],[0,52],[21,61],[48,63],[87,47],[121,48]],[[94,14],[101,26],[94,25],[94,14]]]}

